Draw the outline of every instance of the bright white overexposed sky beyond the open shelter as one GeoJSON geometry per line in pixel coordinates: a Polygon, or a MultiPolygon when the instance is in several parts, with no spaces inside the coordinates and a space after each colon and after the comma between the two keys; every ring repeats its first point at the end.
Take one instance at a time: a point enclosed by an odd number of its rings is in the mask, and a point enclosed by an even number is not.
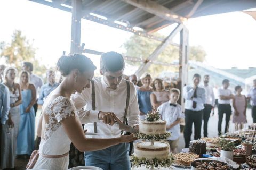
{"type": "MultiPolygon", "coordinates": [[[[21,30],[34,40],[36,58],[47,67],[55,65],[62,51],[70,52],[69,12],[28,0],[1,0],[0,22],[0,41],[10,42],[13,31],[21,30]]],[[[251,16],[243,12],[204,16],[189,19],[187,27],[189,44],[203,46],[206,51],[205,64],[220,69],[255,67],[256,20],[251,16]]],[[[168,35],[171,30],[172,27],[167,27],[160,32],[168,35]]],[[[123,53],[121,45],[130,36],[130,32],[82,19],[81,43],[87,49],[123,53]]],[[[99,56],[86,56],[99,67],[99,56]]]]}

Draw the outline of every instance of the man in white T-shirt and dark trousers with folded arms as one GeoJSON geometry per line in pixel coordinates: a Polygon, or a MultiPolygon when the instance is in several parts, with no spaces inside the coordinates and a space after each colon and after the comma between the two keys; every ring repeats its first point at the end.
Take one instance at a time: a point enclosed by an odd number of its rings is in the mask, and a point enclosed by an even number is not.
{"type": "Polygon", "coordinates": [[[234,95],[232,94],[231,90],[228,89],[229,87],[229,80],[224,79],[222,81],[222,87],[218,89],[218,114],[219,114],[219,121],[218,121],[218,131],[219,135],[222,134],[221,132],[221,124],[223,119],[223,114],[226,114],[226,124],[225,124],[225,131],[227,132],[228,124],[230,120],[231,115],[231,106],[230,101],[234,98],[234,95]]]}

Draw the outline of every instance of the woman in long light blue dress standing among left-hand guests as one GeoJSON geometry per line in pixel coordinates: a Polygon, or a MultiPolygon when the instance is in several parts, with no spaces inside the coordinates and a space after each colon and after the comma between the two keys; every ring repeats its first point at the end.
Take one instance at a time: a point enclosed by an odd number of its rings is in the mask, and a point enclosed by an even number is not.
{"type": "Polygon", "coordinates": [[[36,88],[29,83],[29,73],[22,71],[20,76],[22,104],[20,105],[20,126],[17,139],[17,155],[31,155],[35,140],[36,88]]]}

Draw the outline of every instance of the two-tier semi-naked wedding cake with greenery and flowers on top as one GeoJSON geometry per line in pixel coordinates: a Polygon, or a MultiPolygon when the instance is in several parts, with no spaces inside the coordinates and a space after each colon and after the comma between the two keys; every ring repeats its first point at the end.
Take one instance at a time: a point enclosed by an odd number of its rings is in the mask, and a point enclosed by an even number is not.
{"type": "Polygon", "coordinates": [[[134,154],[131,156],[132,169],[165,169],[171,166],[173,160],[170,145],[160,141],[170,137],[170,133],[166,132],[166,121],[159,119],[157,109],[148,113],[146,120],[140,121],[139,133],[135,136],[149,141],[135,143],[134,154]]]}

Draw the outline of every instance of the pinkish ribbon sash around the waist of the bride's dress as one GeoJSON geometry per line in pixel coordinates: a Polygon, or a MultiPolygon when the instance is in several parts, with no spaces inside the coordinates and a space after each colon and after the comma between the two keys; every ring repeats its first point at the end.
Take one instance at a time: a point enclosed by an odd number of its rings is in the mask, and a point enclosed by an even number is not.
{"type": "Polygon", "coordinates": [[[41,154],[38,150],[34,150],[29,158],[26,169],[32,169],[34,167],[39,155],[42,157],[45,157],[45,158],[61,158],[61,157],[67,156],[68,154],[69,154],[69,152],[67,152],[66,154],[62,154],[62,155],[45,155],[45,154],[41,154]]]}

